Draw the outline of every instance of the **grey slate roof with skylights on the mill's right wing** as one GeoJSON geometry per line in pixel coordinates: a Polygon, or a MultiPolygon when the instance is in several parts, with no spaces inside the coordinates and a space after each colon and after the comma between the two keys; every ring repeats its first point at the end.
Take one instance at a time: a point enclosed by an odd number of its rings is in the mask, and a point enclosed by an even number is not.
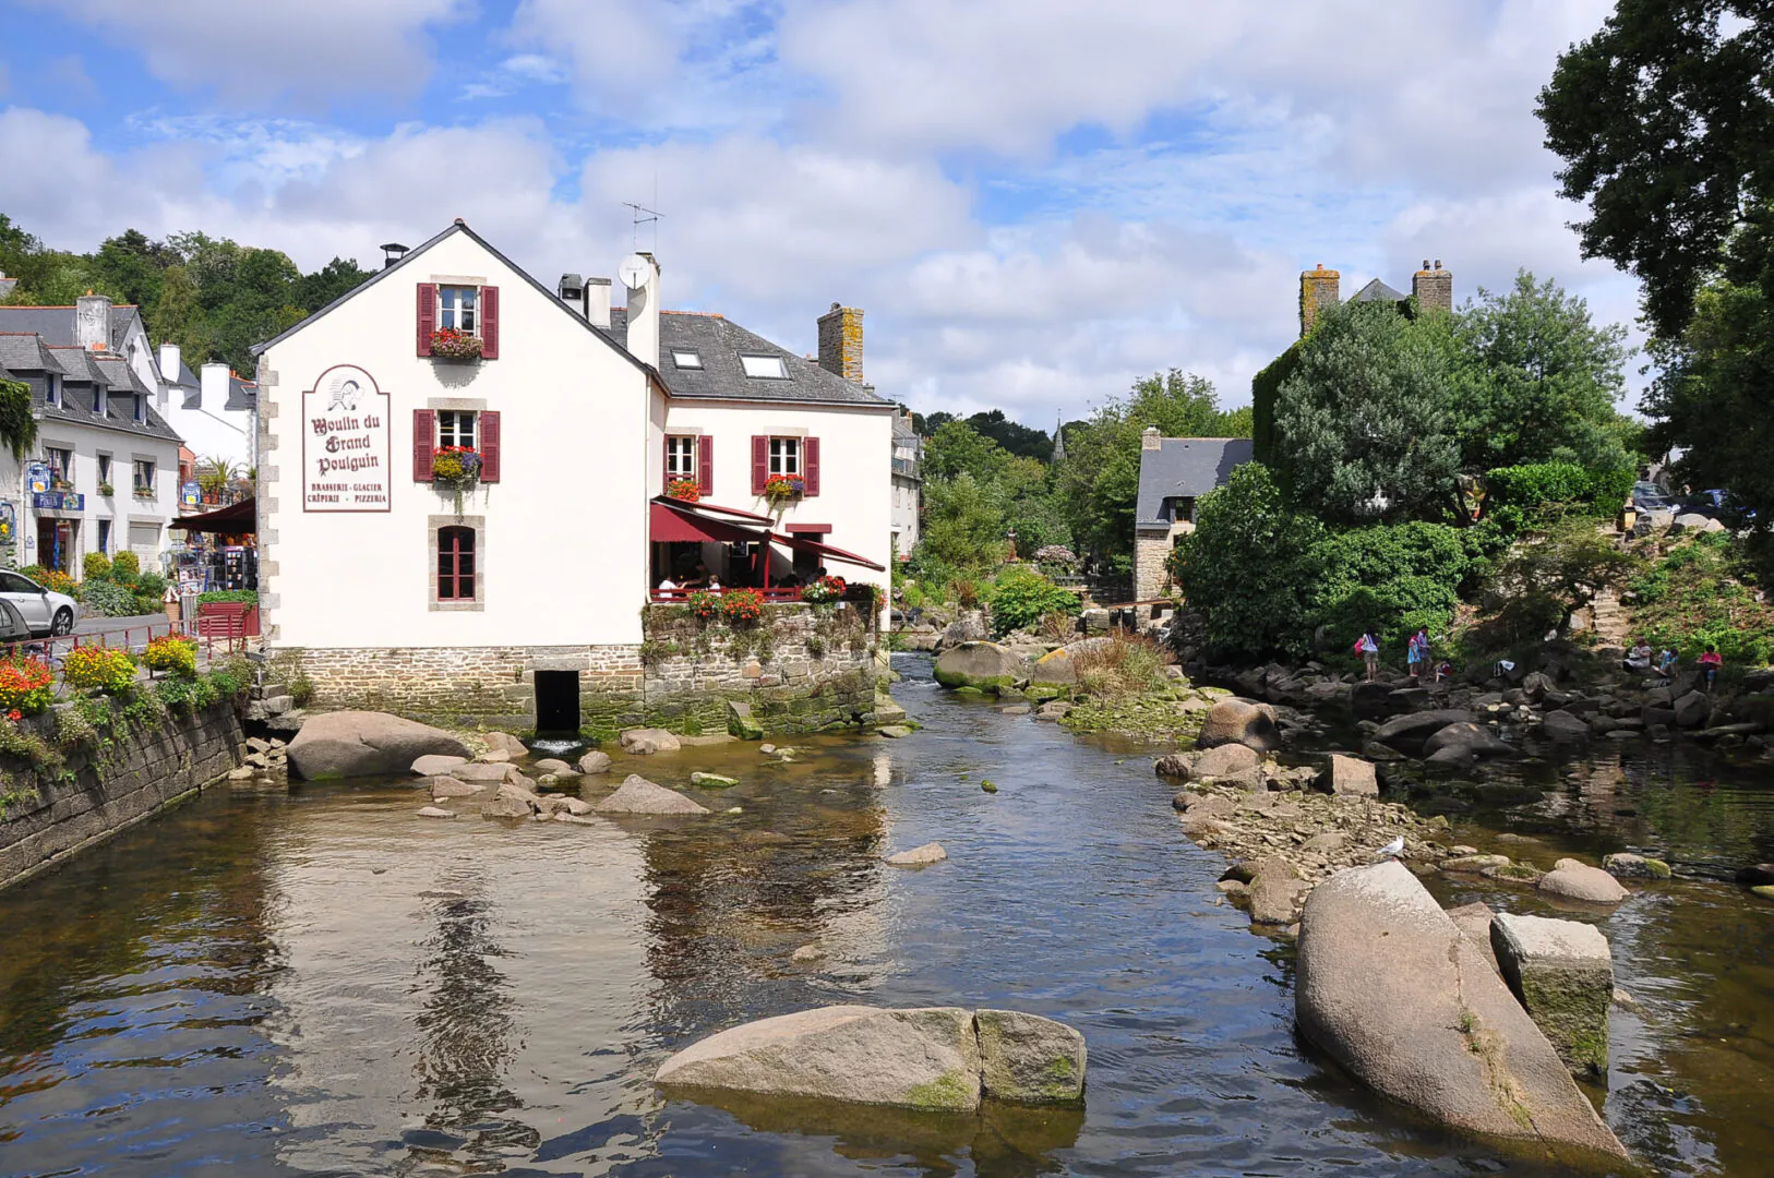
{"type": "MultiPolygon", "coordinates": [[[[608,335],[628,348],[628,309],[610,310],[608,335]]],[[[724,316],[687,310],[660,312],[660,380],[687,401],[798,401],[812,404],[892,404],[887,397],[795,355],[724,316]],[[672,351],[694,351],[699,369],[681,369],[672,351]],[[740,357],[782,357],[788,380],[745,374],[740,357]]]]}

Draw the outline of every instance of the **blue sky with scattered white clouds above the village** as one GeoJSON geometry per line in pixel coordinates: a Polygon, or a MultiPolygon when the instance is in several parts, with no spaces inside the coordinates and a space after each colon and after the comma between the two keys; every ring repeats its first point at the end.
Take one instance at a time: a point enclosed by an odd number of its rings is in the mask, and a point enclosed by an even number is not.
{"type": "Polygon", "coordinates": [[[922,412],[1045,428],[1173,365],[1240,404],[1316,263],[1348,294],[1440,257],[1460,298],[1529,268],[1634,318],[1533,117],[1609,9],[0,0],[0,211],[303,268],[465,216],[552,284],[656,200],[667,305],[800,351],[864,307],[867,378],[922,412]]]}

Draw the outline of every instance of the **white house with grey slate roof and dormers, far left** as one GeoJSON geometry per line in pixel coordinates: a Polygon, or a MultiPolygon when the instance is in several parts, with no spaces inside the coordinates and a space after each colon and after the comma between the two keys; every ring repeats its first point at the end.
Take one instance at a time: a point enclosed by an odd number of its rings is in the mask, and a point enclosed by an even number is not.
{"type": "Polygon", "coordinates": [[[32,390],[37,444],[0,456],[18,564],[80,575],[87,552],[130,550],[158,568],[177,514],[179,436],[154,408],[158,374],[135,307],[0,307],[0,371],[32,390]],[[144,376],[144,371],[147,376],[144,376]],[[32,463],[48,468],[41,490],[32,463]]]}

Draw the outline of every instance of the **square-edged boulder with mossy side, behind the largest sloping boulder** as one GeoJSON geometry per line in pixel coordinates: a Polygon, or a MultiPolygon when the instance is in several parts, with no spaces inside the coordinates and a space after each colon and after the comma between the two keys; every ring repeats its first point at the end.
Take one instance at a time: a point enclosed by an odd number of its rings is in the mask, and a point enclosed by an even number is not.
{"type": "Polygon", "coordinates": [[[1607,1075],[1607,1009],[1614,960],[1602,930],[1582,921],[1499,912],[1490,947],[1510,990],[1577,1075],[1607,1075]]]}

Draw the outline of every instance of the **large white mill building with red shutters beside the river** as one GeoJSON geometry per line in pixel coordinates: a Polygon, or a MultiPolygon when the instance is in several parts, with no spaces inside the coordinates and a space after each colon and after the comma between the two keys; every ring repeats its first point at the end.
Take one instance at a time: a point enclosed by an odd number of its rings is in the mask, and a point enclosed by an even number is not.
{"type": "MultiPolygon", "coordinates": [[[[626,307],[608,279],[548,291],[459,220],[396,254],[255,349],[261,619],[321,703],[608,726],[653,708],[646,610],[681,612],[683,578],[885,587],[894,406],[843,374],[860,312],[814,364],[662,312],[646,254],[626,307]]],[[[706,694],[823,674],[706,662],[706,694]]]]}

